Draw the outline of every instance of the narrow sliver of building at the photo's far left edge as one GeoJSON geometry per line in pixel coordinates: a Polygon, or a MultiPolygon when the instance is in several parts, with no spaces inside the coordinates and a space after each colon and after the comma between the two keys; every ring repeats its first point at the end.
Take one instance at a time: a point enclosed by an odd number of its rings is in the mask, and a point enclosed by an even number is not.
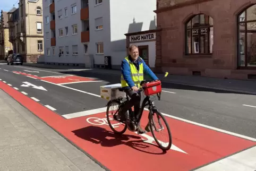
{"type": "Polygon", "coordinates": [[[12,49],[12,44],[9,41],[8,14],[1,11],[0,22],[0,60],[3,60],[8,55],[8,50],[12,49]]]}

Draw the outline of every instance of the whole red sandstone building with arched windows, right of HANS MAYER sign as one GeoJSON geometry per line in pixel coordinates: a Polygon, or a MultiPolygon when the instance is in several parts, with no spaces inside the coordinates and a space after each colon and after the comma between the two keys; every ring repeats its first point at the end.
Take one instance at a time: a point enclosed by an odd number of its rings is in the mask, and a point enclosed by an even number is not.
{"type": "Polygon", "coordinates": [[[156,67],[172,74],[255,78],[255,4],[158,0],[156,67]]]}

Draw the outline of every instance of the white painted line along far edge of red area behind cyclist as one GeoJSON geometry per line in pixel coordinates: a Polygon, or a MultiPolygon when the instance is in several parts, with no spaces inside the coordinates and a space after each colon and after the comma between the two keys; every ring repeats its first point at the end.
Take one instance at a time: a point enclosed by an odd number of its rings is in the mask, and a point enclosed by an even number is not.
{"type": "MultiPolygon", "coordinates": [[[[66,119],[71,119],[71,118],[75,118],[75,117],[97,114],[96,112],[103,113],[103,112],[106,112],[106,110],[107,110],[107,107],[104,107],[104,108],[98,108],[98,109],[93,109],[93,110],[87,110],[87,111],[82,111],[82,112],[66,114],[66,115],[62,115],[62,116],[66,119]],[[90,112],[91,112],[91,114],[89,114],[90,112]]],[[[149,111],[147,108],[144,108],[144,110],[149,111]]],[[[168,115],[168,114],[165,114],[165,113],[162,113],[162,114],[164,116],[167,116],[167,117],[170,117],[170,118],[173,118],[173,119],[177,119],[178,121],[183,121],[183,122],[190,123],[190,124],[197,125],[197,126],[201,126],[201,127],[204,127],[204,128],[210,129],[210,130],[226,133],[226,134],[229,134],[229,135],[237,136],[237,137],[240,137],[240,138],[243,138],[243,139],[246,139],[246,140],[251,140],[251,141],[256,142],[256,139],[252,138],[250,136],[245,136],[245,135],[237,134],[237,133],[234,133],[234,132],[218,129],[217,127],[200,124],[200,123],[189,121],[187,119],[183,119],[183,118],[176,117],[176,116],[173,116],[173,115],[168,115]]]]}

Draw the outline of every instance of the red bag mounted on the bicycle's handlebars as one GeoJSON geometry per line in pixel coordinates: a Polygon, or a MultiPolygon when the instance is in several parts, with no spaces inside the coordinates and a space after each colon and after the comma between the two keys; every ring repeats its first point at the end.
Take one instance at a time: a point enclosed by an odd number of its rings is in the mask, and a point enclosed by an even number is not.
{"type": "Polygon", "coordinates": [[[146,96],[155,95],[162,91],[160,80],[145,83],[143,84],[143,87],[144,87],[144,94],[146,96]]]}

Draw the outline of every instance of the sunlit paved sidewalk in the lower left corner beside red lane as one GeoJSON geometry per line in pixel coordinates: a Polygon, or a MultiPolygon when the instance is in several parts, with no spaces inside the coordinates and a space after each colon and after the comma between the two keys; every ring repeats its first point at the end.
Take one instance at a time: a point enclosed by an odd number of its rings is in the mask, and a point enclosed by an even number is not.
{"type": "Polygon", "coordinates": [[[0,90],[0,170],[104,170],[0,90]]]}

